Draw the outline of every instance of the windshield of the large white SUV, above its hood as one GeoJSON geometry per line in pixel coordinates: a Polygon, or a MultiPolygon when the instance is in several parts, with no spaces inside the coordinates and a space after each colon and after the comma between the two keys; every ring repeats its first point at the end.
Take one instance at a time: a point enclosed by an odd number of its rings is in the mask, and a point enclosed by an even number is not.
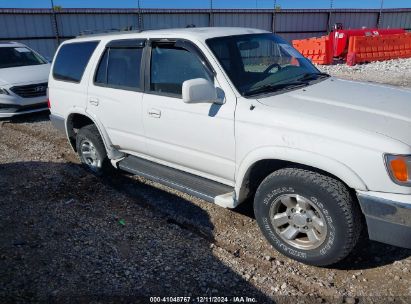
{"type": "Polygon", "coordinates": [[[300,87],[328,77],[273,34],[218,37],[208,39],[207,45],[243,96],[300,87]]]}

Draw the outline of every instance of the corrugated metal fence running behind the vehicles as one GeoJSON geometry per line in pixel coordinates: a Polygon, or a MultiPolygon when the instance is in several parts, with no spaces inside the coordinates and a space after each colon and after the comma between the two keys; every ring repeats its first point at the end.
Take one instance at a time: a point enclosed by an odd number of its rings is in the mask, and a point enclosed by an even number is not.
{"type": "Polygon", "coordinates": [[[411,9],[380,10],[167,10],[167,9],[0,9],[0,40],[21,41],[47,57],[59,42],[85,31],[241,26],[274,31],[287,40],[326,34],[335,23],[344,28],[411,30],[411,9]]]}

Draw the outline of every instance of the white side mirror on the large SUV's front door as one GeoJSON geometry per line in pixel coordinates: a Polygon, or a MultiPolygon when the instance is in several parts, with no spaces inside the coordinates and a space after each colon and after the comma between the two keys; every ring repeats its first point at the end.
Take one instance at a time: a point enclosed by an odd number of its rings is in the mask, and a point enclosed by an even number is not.
{"type": "Polygon", "coordinates": [[[185,103],[219,103],[217,90],[213,83],[204,78],[190,79],[183,82],[183,101],[185,103]]]}

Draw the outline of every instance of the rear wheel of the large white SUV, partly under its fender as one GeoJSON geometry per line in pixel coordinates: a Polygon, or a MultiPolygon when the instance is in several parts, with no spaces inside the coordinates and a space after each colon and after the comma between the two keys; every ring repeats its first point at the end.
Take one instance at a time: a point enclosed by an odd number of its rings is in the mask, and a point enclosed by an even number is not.
{"type": "Polygon", "coordinates": [[[100,176],[112,168],[95,125],[85,126],[78,131],[76,148],[82,165],[90,172],[100,176]]]}

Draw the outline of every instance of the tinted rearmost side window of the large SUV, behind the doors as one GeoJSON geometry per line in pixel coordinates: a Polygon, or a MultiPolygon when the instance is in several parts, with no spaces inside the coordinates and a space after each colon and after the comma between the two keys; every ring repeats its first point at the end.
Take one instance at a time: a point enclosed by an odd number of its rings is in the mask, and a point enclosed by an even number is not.
{"type": "Polygon", "coordinates": [[[54,79],[79,83],[98,43],[87,41],[63,45],[54,63],[54,79]]]}

